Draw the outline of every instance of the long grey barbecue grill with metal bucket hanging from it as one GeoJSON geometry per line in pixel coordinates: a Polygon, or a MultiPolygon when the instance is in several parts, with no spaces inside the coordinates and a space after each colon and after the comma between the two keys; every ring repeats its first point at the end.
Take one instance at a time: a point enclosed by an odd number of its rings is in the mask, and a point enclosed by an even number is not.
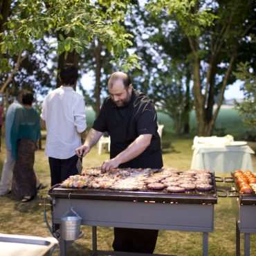
{"type": "MultiPolygon", "coordinates": [[[[97,226],[203,232],[203,255],[208,255],[208,232],[213,232],[214,204],[217,203],[216,181],[223,181],[214,174],[211,176],[212,190],[205,192],[193,190],[170,193],[165,190],[62,188],[57,184],[48,192],[52,198],[53,223],[61,224],[62,215],[72,205],[82,217],[81,224],[92,226],[93,255],[124,254],[97,249],[97,226]]],[[[226,194],[218,196],[225,197],[226,194]]],[[[61,236],[62,256],[66,255],[65,243],[61,236]]],[[[125,253],[125,255],[135,254],[125,253]]]]}

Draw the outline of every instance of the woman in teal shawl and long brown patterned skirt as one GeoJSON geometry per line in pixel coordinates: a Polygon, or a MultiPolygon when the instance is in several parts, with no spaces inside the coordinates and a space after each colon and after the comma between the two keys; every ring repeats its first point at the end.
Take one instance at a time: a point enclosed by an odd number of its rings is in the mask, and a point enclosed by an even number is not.
{"type": "Polygon", "coordinates": [[[22,92],[23,106],[15,110],[10,131],[12,158],[15,159],[12,194],[21,197],[22,203],[33,200],[37,194],[37,179],[33,167],[41,130],[39,113],[32,107],[33,99],[31,91],[22,92]]]}

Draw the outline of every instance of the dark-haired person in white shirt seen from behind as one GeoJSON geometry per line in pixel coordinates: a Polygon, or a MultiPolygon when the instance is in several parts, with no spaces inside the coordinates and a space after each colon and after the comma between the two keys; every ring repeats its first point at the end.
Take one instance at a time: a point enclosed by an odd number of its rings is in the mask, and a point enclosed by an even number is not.
{"type": "Polygon", "coordinates": [[[62,86],[44,99],[41,118],[46,127],[45,154],[51,170],[51,185],[78,174],[75,149],[81,145],[86,130],[84,98],[73,89],[77,68],[66,64],[60,71],[62,86]]]}

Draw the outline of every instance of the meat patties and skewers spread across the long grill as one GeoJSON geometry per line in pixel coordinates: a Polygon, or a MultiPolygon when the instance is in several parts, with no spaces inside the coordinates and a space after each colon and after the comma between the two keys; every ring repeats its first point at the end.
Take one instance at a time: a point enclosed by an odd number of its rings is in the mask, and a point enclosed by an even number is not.
{"type": "MultiPolygon", "coordinates": [[[[251,177],[250,177],[251,178],[251,177]]],[[[82,175],[70,176],[61,183],[64,188],[95,188],[110,190],[163,190],[184,192],[211,190],[211,174],[208,170],[135,169],[116,168],[102,174],[100,167],[84,169],[82,175]]]]}

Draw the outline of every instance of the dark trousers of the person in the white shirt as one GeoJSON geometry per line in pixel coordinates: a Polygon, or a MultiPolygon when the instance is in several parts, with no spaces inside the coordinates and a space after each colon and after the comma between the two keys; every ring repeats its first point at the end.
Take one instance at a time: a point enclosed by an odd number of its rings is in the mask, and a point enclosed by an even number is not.
{"type": "Polygon", "coordinates": [[[58,159],[49,157],[49,165],[51,170],[51,185],[62,183],[65,179],[68,179],[71,175],[78,174],[76,167],[78,156],[72,156],[68,159],[58,159]]]}

